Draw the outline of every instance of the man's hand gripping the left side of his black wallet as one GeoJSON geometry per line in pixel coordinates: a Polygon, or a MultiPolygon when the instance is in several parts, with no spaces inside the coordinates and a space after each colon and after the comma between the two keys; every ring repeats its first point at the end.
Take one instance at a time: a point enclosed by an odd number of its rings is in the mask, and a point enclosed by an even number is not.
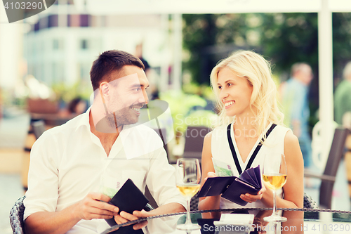
{"type": "Polygon", "coordinates": [[[112,219],[119,208],[108,204],[111,198],[102,193],[89,193],[75,206],[74,212],[80,219],[112,219]]]}

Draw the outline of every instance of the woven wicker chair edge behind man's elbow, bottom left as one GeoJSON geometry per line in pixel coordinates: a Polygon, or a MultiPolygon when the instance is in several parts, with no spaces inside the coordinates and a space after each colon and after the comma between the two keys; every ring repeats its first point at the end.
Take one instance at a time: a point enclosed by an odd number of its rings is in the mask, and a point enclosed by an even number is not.
{"type": "Polygon", "coordinates": [[[23,220],[23,214],[25,213],[25,205],[23,204],[25,196],[15,202],[10,212],[10,223],[13,230],[13,234],[25,234],[25,221],[23,220]]]}

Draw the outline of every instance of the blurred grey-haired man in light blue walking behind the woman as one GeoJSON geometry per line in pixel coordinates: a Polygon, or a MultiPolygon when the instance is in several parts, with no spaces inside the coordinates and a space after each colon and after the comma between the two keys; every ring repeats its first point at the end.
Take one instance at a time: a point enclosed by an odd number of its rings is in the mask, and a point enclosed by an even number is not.
{"type": "Polygon", "coordinates": [[[308,88],[313,74],[307,63],[295,63],[291,67],[291,78],[282,84],[282,105],[284,108],[284,123],[291,127],[293,134],[298,137],[303,153],[304,167],[312,167],[311,138],[308,132],[308,88]]]}

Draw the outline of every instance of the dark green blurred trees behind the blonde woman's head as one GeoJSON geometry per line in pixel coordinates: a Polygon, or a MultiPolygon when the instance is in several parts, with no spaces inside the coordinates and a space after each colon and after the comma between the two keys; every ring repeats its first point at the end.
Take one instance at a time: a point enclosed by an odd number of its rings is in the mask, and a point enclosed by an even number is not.
{"type": "Polygon", "coordinates": [[[189,14],[183,20],[183,46],[190,52],[183,69],[199,84],[209,84],[216,63],[238,49],[262,53],[286,78],[296,62],[317,71],[317,13],[189,14]]]}

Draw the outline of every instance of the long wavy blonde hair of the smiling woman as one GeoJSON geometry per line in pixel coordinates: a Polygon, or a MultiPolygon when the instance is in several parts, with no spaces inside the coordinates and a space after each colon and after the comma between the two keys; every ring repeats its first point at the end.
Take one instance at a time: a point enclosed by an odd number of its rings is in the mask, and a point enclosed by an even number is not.
{"type": "Polygon", "coordinates": [[[282,124],[283,113],[277,104],[277,86],[272,79],[270,63],[263,56],[253,51],[237,51],[229,58],[221,60],[211,72],[211,86],[216,94],[216,107],[219,112],[218,125],[227,125],[235,121],[225,113],[223,101],[219,99],[218,73],[223,68],[230,68],[239,77],[247,79],[253,87],[250,108],[255,115],[253,125],[256,126],[257,136],[265,131],[267,122],[282,124]]]}

